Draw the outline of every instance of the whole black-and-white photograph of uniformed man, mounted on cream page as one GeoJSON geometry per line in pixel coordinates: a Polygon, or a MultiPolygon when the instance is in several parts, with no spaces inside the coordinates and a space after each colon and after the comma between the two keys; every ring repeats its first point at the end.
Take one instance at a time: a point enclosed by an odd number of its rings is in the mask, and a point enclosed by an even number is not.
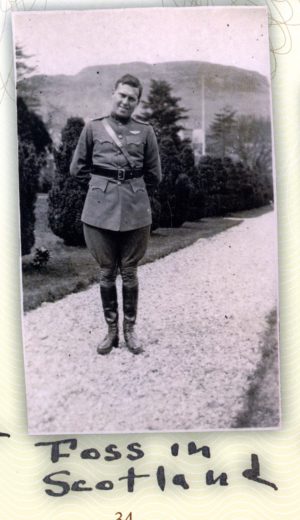
{"type": "Polygon", "coordinates": [[[280,427],[267,10],[13,36],[28,432],[280,427]]]}

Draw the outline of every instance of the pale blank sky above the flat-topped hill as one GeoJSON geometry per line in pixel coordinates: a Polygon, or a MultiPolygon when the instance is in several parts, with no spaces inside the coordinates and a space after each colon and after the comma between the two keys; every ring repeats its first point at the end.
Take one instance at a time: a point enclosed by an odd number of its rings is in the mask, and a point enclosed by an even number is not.
{"type": "Polygon", "coordinates": [[[270,76],[267,12],[261,7],[24,11],[15,43],[39,74],[77,74],[91,65],[197,60],[270,76]]]}

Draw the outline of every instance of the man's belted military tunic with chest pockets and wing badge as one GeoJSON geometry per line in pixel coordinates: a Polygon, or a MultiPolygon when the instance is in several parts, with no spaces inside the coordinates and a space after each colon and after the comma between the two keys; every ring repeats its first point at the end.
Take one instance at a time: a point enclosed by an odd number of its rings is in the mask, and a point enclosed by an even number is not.
{"type": "Polygon", "coordinates": [[[152,222],[150,202],[145,186],[161,181],[158,145],[153,128],[130,118],[121,122],[113,116],[107,121],[126,147],[134,168],[143,170],[143,177],[126,181],[92,173],[93,166],[117,170],[130,165],[103,126],[103,119],[94,119],[84,127],[70,167],[71,175],[84,178],[91,174],[81,220],[85,224],[112,231],[130,231],[152,222]]]}

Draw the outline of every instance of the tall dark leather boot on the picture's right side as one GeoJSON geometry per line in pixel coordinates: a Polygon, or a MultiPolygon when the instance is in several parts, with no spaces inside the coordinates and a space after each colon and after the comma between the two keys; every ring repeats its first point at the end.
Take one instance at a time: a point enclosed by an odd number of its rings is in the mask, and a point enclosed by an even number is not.
{"type": "Polygon", "coordinates": [[[126,347],[133,354],[140,354],[141,352],[144,352],[144,350],[138,343],[136,333],[134,332],[138,304],[138,286],[128,286],[123,284],[122,292],[124,311],[123,331],[126,347]]]}

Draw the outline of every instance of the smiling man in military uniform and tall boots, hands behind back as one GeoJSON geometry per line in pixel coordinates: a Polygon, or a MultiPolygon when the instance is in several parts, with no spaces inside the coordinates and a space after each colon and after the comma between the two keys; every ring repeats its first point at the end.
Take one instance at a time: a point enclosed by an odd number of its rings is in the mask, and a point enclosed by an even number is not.
{"type": "Polygon", "coordinates": [[[143,351],[134,325],[138,304],[138,262],[144,256],[151,226],[148,190],[161,180],[153,128],[132,117],[142,95],[140,81],[126,74],[115,85],[111,114],[84,127],[71,163],[79,180],[91,174],[82,221],[87,247],[100,266],[100,294],[108,333],[98,346],[108,354],[119,345],[116,277],[122,277],[127,348],[143,351]],[[144,180],[145,177],[145,180],[144,180]]]}

